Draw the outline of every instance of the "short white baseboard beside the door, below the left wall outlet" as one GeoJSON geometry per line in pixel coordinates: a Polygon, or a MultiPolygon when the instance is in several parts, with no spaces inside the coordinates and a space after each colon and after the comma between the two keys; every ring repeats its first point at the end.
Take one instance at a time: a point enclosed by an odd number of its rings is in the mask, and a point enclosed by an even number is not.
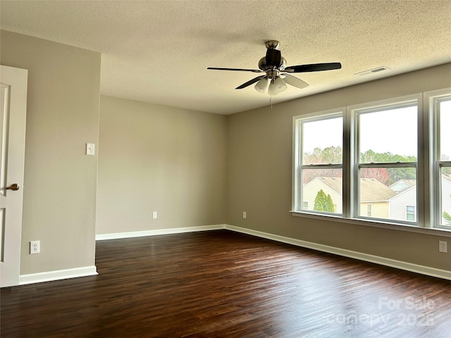
{"type": "Polygon", "coordinates": [[[46,271],[45,273],[30,273],[19,276],[19,285],[49,282],[51,280],[66,280],[68,278],[99,275],[95,265],[82,268],[46,271]]]}

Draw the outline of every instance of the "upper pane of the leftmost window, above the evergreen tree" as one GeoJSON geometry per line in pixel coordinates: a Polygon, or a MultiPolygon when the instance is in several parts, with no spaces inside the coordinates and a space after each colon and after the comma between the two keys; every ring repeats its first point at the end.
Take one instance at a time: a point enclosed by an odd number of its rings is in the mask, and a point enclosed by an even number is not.
{"type": "Polygon", "coordinates": [[[342,163],[343,118],[302,123],[302,164],[342,163]]]}

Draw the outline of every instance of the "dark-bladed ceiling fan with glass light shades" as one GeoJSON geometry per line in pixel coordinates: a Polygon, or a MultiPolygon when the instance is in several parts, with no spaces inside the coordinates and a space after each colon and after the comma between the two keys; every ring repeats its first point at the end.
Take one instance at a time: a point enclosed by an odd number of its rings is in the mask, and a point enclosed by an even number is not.
{"type": "Polygon", "coordinates": [[[333,70],[340,69],[341,63],[312,63],[309,65],[289,65],[287,66],[287,61],[282,57],[280,53],[279,42],[276,40],[270,40],[265,43],[266,45],[266,56],[261,58],[259,61],[260,69],[240,69],[240,68],[216,68],[209,67],[207,69],[214,70],[235,70],[240,72],[252,72],[252,73],[265,73],[265,75],[260,75],[254,77],[235,89],[243,89],[251,84],[255,84],[255,89],[257,92],[265,93],[268,90],[269,95],[277,95],[285,89],[287,89],[287,84],[293,87],[305,88],[309,84],[300,80],[299,78],[291,75],[290,73],[307,73],[307,72],[319,72],[321,70],[333,70]]]}

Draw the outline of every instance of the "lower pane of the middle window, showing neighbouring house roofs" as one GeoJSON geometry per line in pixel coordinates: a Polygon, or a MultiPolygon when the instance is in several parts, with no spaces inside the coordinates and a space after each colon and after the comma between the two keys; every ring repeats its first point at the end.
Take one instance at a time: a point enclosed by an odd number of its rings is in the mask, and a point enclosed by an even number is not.
{"type": "Polygon", "coordinates": [[[414,168],[362,168],[359,180],[359,215],[415,221],[414,173],[414,168]],[[390,177],[396,177],[396,180],[390,177]],[[369,205],[371,215],[368,213],[369,205]]]}

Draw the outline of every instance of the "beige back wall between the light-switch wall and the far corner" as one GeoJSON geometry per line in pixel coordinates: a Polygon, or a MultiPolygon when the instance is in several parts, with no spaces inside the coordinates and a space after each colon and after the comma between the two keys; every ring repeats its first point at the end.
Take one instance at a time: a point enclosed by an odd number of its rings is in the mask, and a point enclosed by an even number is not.
{"type": "Polygon", "coordinates": [[[109,96],[100,107],[97,234],[224,223],[226,116],[109,96]]]}

